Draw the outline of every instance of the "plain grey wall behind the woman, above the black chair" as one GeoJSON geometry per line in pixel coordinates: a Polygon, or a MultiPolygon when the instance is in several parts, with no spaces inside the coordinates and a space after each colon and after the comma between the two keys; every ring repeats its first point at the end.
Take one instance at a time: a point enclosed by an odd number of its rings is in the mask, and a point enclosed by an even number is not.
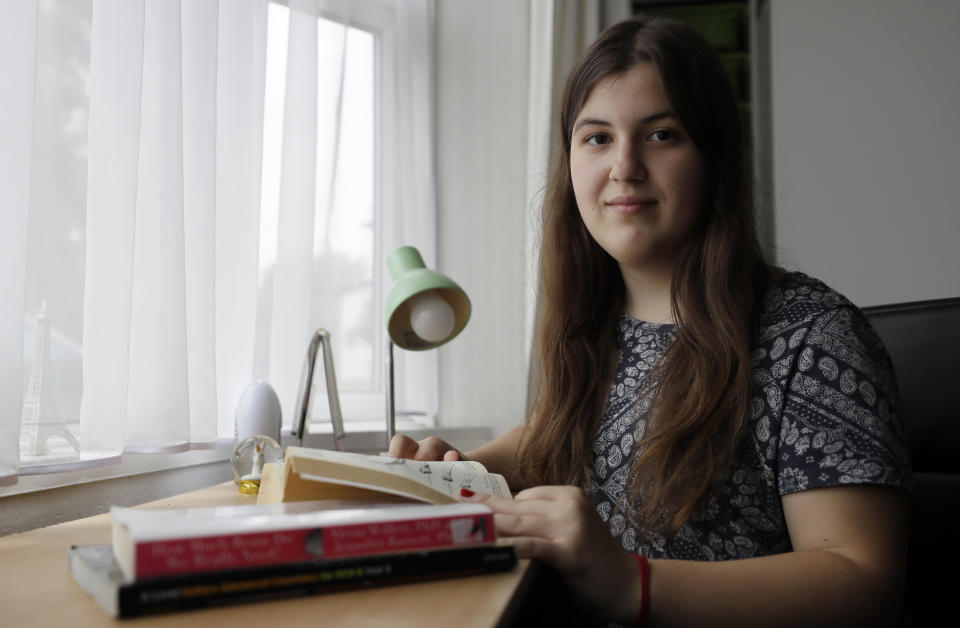
{"type": "Polygon", "coordinates": [[[771,0],[779,261],[861,306],[960,295],[960,2],[771,0]]]}

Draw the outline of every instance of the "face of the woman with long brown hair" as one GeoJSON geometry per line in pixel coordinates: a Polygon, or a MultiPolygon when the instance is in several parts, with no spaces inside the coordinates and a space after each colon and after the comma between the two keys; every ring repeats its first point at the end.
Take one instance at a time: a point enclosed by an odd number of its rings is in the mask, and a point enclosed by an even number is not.
{"type": "Polygon", "coordinates": [[[621,268],[672,270],[704,205],[706,163],[653,64],[590,92],[573,125],[570,176],[587,230],[621,268]]]}

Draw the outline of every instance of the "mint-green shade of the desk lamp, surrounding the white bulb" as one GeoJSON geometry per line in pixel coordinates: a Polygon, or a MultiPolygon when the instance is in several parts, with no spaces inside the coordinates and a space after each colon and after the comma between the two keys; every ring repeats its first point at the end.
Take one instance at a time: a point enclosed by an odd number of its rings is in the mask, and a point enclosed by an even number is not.
{"type": "Polygon", "coordinates": [[[417,249],[400,247],[387,257],[387,268],[394,284],[387,295],[385,318],[387,333],[395,345],[409,351],[424,351],[439,347],[463,331],[470,320],[467,293],[446,275],[427,268],[417,249]],[[452,328],[440,339],[426,339],[414,331],[411,315],[416,303],[425,297],[439,298],[452,310],[452,328]]]}

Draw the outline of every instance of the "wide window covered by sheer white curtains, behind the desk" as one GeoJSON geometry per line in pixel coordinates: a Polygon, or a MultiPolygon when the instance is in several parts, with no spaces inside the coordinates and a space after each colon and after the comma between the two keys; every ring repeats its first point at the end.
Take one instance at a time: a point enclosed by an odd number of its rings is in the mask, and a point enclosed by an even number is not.
{"type": "MultiPolygon", "coordinates": [[[[7,44],[35,67],[3,66],[29,86],[12,100],[32,128],[8,148],[30,163],[25,259],[4,260],[26,269],[22,318],[3,320],[22,363],[0,371],[22,380],[19,416],[6,397],[0,413],[19,466],[231,438],[254,379],[289,425],[318,326],[345,419],[380,427],[384,259],[415,244],[429,262],[435,246],[417,106],[432,2],[42,0],[11,15],[35,33],[7,44]]],[[[398,414],[429,423],[435,357],[398,362],[398,414]]],[[[0,475],[17,466],[0,451],[0,475]]]]}

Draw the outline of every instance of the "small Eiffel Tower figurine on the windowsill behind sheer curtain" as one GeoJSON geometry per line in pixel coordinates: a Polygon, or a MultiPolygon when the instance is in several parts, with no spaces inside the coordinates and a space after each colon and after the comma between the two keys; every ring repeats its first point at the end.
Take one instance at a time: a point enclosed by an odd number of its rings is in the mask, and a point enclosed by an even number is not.
{"type": "Polygon", "coordinates": [[[80,443],[67,429],[66,421],[60,418],[53,405],[50,385],[50,321],[47,316],[47,302],[44,301],[37,312],[37,343],[33,353],[33,367],[30,370],[30,383],[20,416],[20,433],[27,437],[27,451],[24,453],[28,456],[44,456],[49,453],[47,440],[51,436],[60,436],[70,443],[75,451],[80,451],[80,443]]]}

